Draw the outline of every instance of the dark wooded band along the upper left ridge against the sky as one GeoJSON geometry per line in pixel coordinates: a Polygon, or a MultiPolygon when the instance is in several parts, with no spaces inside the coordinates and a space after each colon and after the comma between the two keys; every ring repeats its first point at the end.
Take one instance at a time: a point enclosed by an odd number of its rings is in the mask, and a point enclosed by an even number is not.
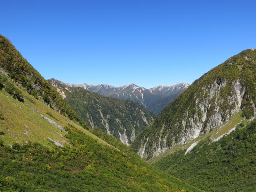
{"type": "MultiPolygon", "coordinates": [[[[2,35],[0,35],[0,51],[0,68],[4,69],[8,76],[23,86],[36,99],[42,98],[46,104],[56,108],[61,114],[78,122],[84,128],[88,128],[88,123],[71,109],[58,92],[21,56],[10,40],[2,35]]],[[[3,88],[3,84],[3,79],[0,78],[0,89],[3,88]]],[[[5,89],[13,98],[23,101],[22,95],[14,89],[11,82],[6,82],[5,89]]]]}

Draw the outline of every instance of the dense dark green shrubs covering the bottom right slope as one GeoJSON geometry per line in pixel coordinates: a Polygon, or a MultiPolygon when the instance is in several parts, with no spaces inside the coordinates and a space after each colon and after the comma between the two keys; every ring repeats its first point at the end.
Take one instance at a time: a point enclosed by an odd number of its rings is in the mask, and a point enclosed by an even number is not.
{"type": "Polygon", "coordinates": [[[256,120],[216,142],[200,141],[188,154],[172,153],[154,165],[209,192],[256,191],[256,120]]]}

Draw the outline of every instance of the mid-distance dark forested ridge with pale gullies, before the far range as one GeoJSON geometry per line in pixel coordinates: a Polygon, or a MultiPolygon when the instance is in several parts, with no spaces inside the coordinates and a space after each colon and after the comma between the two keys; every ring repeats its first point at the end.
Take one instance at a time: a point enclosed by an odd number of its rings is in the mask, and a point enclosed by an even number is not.
{"type": "Polygon", "coordinates": [[[92,128],[100,128],[125,145],[130,145],[135,136],[154,120],[152,112],[131,100],[104,97],[81,87],[68,87],[56,79],[48,82],[56,87],[77,114],[90,122],[92,128]]]}

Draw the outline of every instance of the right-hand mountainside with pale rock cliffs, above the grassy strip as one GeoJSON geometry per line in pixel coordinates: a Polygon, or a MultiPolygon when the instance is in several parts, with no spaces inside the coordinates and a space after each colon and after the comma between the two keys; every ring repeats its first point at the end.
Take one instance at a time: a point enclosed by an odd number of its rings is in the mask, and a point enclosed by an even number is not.
{"type": "Polygon", "coordinates": [[[147,160],[228,121],[242,110],[255,116],[256,50],[232,56],[191,84],[164,108],[134,140],[132,148],[147,160]]]}

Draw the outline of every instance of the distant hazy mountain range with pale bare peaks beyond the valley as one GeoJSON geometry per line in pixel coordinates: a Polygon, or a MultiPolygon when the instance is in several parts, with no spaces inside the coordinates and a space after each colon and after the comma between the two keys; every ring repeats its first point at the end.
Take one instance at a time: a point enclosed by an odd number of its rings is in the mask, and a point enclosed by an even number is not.
{"type": "MultiPolygon", "coordinates": [[[[134,102],[140,103],[145,108],[151,103],[156,102],[162,97],[172,95],[188,88],[187,83],[178,83],[171,86],[156,86],[151,89],[139,87],[135,84],[126,84],[119,87],[114,87],[106,84],[92,85],[92,84],[70,84],[66,83],[69,87],[83,87],[91,92],[97,92],[106,97],[114,97],[121,100],[130,99],[134,102]]],[[[167,103],[168,105],[169,103],[167,103]]],[[[156,106],[157,107],[157,106],[156,106]]],[[[161,108],[162,109],[162,108],[161,108]]],[[[158,109],[158,110],[161,110],[158,109]]]]}

